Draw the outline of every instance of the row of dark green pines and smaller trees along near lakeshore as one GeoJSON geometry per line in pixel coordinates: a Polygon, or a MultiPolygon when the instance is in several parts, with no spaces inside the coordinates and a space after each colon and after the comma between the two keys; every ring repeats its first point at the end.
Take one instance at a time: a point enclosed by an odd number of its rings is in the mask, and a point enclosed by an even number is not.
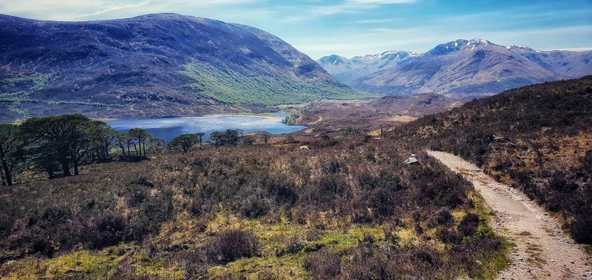
{"type": "MultiPolygon", "coordinates": [[[[187,153],[201,146],[205,133],[181,134],[167,149],[187,153]]],[[[242,130],[212,132],[212,146],[254,144],[242,130]]],[[[269,134],[261,141],[268,143],[269,134]]],[[[118,132],[107,123],[81,114],[29,118],[20,125],[0,124],[0,181],[12,186],[15,174],[25,170],[46,173],[49,179],[78,175],[80,165],[123,160],[137,162],[165,148],[162,139],[142,128],[118,132]],[[113,153],[115,155],[113,155],[113,153]]]]}

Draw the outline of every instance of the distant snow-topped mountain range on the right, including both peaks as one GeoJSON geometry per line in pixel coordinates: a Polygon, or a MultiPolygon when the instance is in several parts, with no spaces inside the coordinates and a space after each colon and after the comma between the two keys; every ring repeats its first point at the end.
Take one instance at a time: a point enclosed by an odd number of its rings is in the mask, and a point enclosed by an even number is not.
{"type": "Polygon", "coordinates": [[[479,96],[592,73],[592,51],[539,51],[483,39],[459,39],[422,54],[390,51],[362,58],[330,55],[317,62],[357,90],[389,94],[479,96]]]}

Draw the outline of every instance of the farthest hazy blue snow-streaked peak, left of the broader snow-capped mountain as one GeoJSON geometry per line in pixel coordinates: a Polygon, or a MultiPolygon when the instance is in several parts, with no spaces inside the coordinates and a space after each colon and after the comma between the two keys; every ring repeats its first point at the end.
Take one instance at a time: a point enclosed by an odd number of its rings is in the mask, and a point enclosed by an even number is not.
{"type": "Polygon", "coordinates": [[[376,71],[387,69],[417,56],[415,52],[390,50],[376,55],[364,55],[347,59],[338,55],[321,57],[317,62],[333,77],[345,84],[376,71]]]}

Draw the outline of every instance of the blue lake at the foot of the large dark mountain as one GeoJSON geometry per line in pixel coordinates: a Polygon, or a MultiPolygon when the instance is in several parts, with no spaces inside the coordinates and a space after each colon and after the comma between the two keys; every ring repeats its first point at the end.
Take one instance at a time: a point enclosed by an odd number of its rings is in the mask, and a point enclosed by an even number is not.
{"type": "Polygon", "coordinates": [[[207,141],[212,132],[223,132],[228,129],[244,130],[245,133],[264,131],[271,134],[284,134],[305,128],[302,125],[285,125],[282,123],[284,117],[278,113],[271,116],[209,115],[110,120],[107,123],[119,132],[125,132],[134,127],[143,128],[153,137],[163,139],[167,144],[177,135],[186,133],[204,132],[204,141],[207,141]]]}

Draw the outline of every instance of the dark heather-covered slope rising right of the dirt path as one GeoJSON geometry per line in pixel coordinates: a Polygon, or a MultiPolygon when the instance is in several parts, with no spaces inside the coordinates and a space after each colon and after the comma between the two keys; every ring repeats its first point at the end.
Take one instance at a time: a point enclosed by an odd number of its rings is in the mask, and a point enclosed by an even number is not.
{"type": "Polygon", "coordinates": [[[476,99],[392,132],[474,162],[592,244],[592,76],[476,99]]]}

